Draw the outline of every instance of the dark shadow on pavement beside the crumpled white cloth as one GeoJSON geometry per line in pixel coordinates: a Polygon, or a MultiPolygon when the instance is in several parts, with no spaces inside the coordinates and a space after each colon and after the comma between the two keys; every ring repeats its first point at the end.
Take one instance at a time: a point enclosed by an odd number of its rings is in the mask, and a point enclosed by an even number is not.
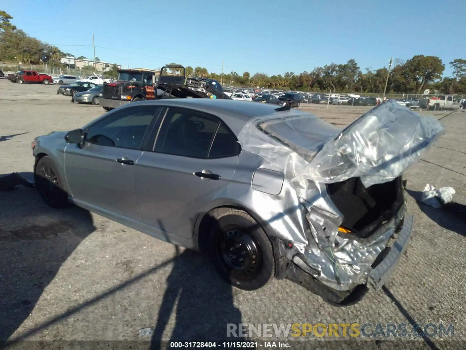
{"type": "Polygon", "coordinates": [[[441,208],[432,208],[421,202],[421,191],[406,189],[406,192],[418,202],[419,209],[436,224],[449,231],[456,232],[461,236],[466,236],[464,228],[466,221],[465,205],[460,203],[446,203],[441,208]]]}

